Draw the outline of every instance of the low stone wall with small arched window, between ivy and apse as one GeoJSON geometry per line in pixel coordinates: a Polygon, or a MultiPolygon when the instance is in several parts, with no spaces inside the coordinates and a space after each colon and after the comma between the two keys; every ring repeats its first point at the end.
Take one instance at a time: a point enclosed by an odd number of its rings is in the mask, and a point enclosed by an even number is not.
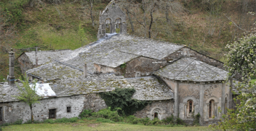
{"type": "Polygon", "coordinates": [[[165,101],[152,101],[151,104],[147,105],[141,111],[137,111],[134,116],[137,118],[147,118],[154,119],[154,113],[158,113],[159,119],[164,119],[171,116],[173,113],[174,101],[165,100],[165,101]]]}

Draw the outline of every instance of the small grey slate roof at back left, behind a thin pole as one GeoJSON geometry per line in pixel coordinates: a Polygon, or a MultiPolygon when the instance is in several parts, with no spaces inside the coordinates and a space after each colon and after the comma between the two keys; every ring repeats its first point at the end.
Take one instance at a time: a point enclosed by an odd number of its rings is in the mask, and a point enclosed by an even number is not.
{"type": "MultiPolygon", "coordinates": [[[[49,51],[38,51],[37,52],[37,62],[38,65],[42,65],[49,62],[54,62],[54,59],[61,60],[63,55],[67,55],[71,53],[72,50],[49,50],[49,51]]],[[[33,65],[36,65],[36,59],[35,59],[35,51],[31,52],[25,52],[25,54],[28,56],[30,62],[33,65]]]]}

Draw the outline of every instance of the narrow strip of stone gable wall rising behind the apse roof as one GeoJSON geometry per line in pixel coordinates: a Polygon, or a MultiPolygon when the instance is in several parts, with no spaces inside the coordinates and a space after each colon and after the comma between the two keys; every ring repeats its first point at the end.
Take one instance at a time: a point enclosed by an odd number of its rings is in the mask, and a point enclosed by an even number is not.
{"type": "Polygon", "coordinates": [[[223,62],[220,62],[220,61],[215,60],[211,57],[203,55],[203,54],[201,54],[201,53],[199,53],[199,52],[197,52],[193,49],[190,49],[189,47],[183,47],[182,49],[177,50],[175,53],[165,57],[164,59],[167,60],[167,61],[170,61],[170,60],[174,60],[174,59],[184,57],[184,56],[194,57],[198,60],[201,60],[202,62],[206,62],[209,65],[219,67],[221,69],[224,66],[223,62]]]}

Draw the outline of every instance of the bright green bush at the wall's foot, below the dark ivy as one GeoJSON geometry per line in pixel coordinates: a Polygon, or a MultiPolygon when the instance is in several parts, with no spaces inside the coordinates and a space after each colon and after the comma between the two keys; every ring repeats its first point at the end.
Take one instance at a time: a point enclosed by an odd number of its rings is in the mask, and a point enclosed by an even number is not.
{"type": "Polygon", "coordinates": [[[98,111],[97,113],[93,113],[93,116],[96,118],[105,118],[105,119],[110,119],[111,121],[121,121],[123,118],[118,115],[118,110],[120,108],[116,108],[114,111],[111,110],[111,107],[108,107],[106,109],[102,109],[98,111]]]}

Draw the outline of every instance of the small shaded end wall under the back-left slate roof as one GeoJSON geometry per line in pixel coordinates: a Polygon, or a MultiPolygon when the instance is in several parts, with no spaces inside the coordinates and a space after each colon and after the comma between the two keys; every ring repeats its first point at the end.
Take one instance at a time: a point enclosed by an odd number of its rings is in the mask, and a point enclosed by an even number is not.
{"type": "Polygon", "coordinates": [[[23,53],[19,58],[18,58],[20,67],[21,67],[21,72],[23,75],[25,75],[25,72],[28,71],[29,69],[33,69],[35,66],[30,62],[28,56],[23,53]]]}

